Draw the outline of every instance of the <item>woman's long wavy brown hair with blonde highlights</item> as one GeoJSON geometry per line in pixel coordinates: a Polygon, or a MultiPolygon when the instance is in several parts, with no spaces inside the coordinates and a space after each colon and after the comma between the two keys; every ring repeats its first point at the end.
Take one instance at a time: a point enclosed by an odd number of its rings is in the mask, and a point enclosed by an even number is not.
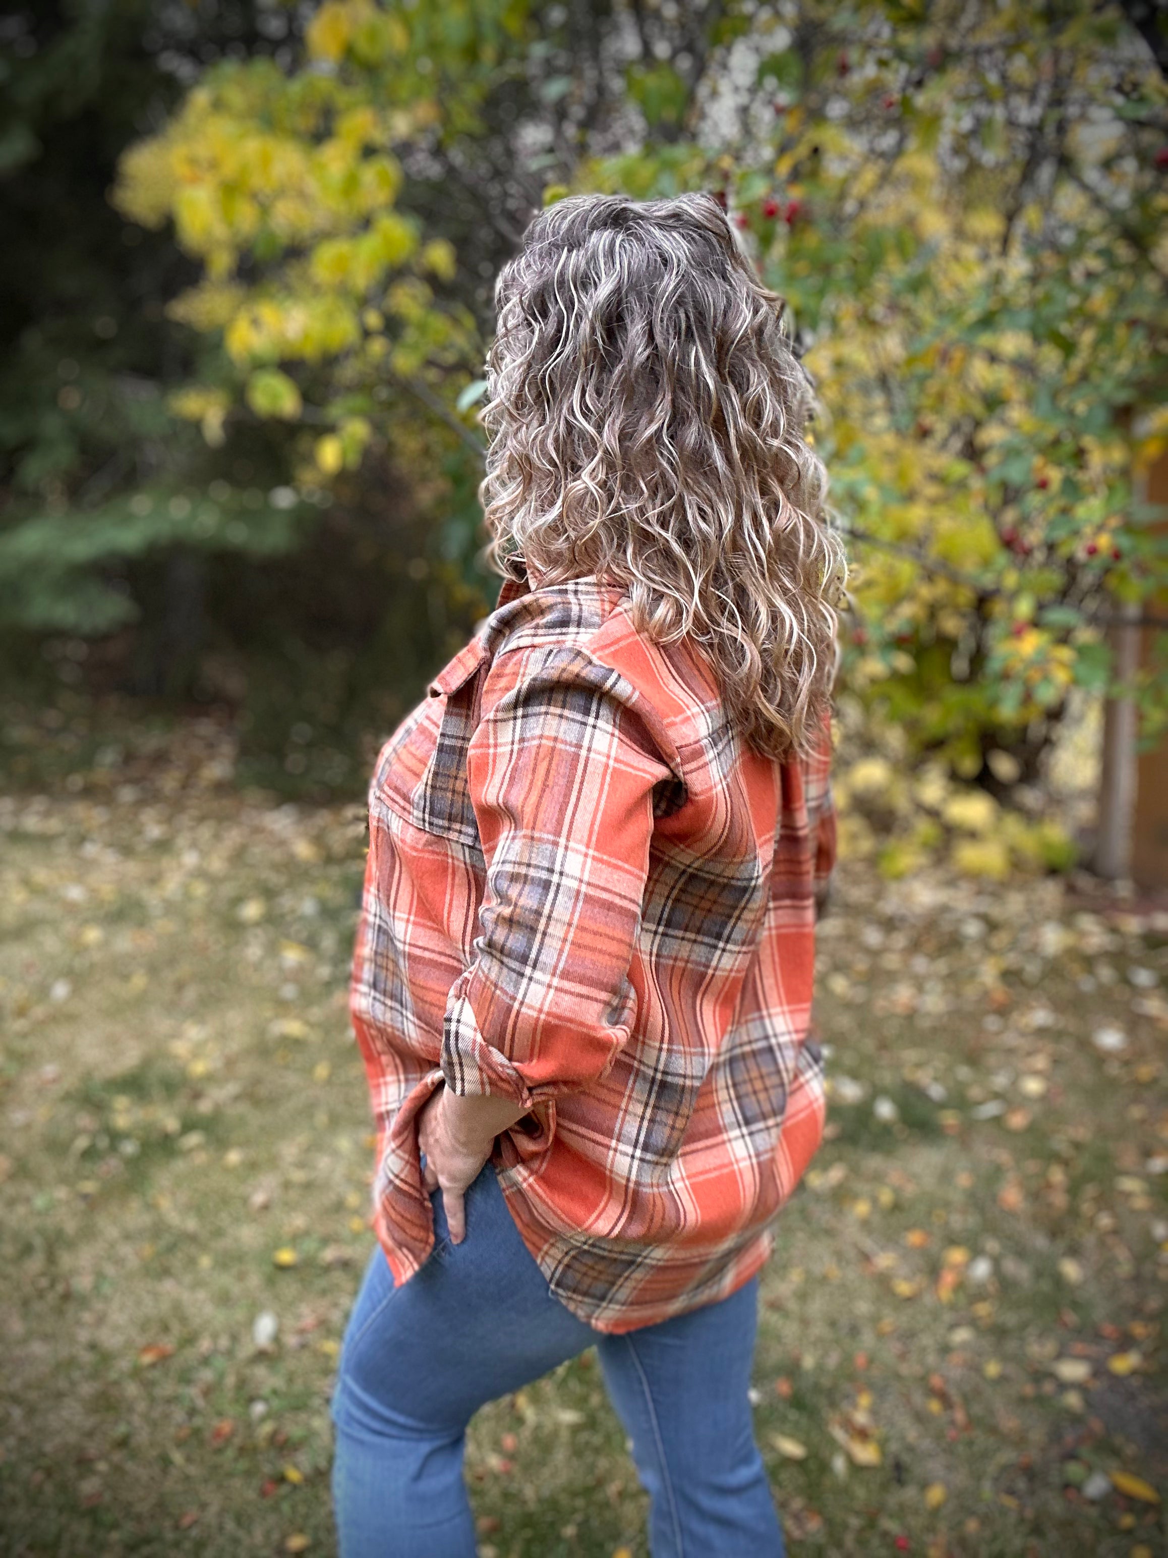
{"type": "Polygon", "coordinates": [[[491,564],[618,581],[639,631],[702,653],[752,749],[813,746],[844,556],[783,301],[718,203],[562,199],[526,229],[495,304],[491,564]]]}

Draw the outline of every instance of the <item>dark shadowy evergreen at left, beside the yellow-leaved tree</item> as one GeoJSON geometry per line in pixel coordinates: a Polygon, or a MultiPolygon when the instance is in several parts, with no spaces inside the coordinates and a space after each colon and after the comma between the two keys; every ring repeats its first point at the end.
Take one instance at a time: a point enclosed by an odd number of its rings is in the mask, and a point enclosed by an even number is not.
{"type": "Polygon", "coordinates": [[[0,23],[0,654],[9,696],[64,682],[241,709],[243,771],[319,791],[360,784],[361,732],[400,714],[481,597],[428,573],[394,467],[296,489],[282,422],[207,439],[173,413],[215,357],[167,312],[195,266],[109,201],[125,148],[204,69],[290,67],[299,19],[64,0],[0,23]]]}

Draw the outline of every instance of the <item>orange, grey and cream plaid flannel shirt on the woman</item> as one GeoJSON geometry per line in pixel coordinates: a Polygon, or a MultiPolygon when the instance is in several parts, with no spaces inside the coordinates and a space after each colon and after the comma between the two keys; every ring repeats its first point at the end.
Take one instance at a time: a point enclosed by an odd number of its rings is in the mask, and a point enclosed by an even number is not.
{"type": "Polygon", "coordinates": [[[776,762],[626,592],[505,581],[369,791],[350,1010],[397,1282],[433,1248],[434,1087],[528,1114],[494,1165],[551,1290],[604,1332],[732,1293],[816,1151],[827,732],[776,762]]]}

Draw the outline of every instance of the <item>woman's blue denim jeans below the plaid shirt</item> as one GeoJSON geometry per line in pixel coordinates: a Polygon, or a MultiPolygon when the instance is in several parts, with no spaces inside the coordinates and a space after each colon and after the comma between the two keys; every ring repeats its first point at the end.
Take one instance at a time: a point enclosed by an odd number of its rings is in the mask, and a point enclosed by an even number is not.
{"type": "Polygon", "coordinates": [[[553,1293],[491,1164],[452,1245],[396,1288],[374,1250],[333,1394],[341,1558],[473,1558],[466,1427],[487,1401],[596,1346],[651,1499],[654,1558],[782,1558],[783,1538],[748,1398],[754,1279],[730,1298],[626,1335],[601,1335],[553,1293]]]}

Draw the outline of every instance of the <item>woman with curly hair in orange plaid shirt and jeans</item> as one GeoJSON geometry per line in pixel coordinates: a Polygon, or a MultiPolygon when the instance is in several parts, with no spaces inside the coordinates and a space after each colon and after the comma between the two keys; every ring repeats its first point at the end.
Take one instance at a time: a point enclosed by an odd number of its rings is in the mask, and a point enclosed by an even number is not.
{"type": "Polygon", "coordinates": [[[808,382],[705,195],[551,206],[497,304],[505,584],[371,788],[341,1553],[470,1558],[470,1416],[598,1345],[656,1558],[771,1558],[757,1271],[822,1134],[835,840],[808,382]]]}

